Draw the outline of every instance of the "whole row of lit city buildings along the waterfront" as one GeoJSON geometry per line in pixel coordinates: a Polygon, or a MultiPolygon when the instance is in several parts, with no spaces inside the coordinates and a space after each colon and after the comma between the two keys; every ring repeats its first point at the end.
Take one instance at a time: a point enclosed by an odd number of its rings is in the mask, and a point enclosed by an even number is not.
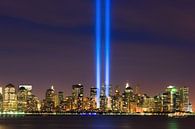
{"type": "Polygon", "coordinates": [[[106,96],[102,85],[100,99],[97,100],[97,88],[90,89],[90,96],[84,96],[84,86],[72,86],[72,95],[56,92],[54,87],[46,90],[45,98],[39,100],[32,93],[32,85],[12,84],[0,87],[0,112],[24,113],[74,113],[74,112],[109,112],[109,113],[174,113],[192,112],[189,100],[189,88],[168,86],[163,93],[150,97],[142,94],[139,87],[134,89],[127,83],[123,92],[119,87],[110,86],[110,96],[106,96]],[[112,91],[114,91],[112,93],[112,91]],[[97,101],[100,107],[97,107],[97,101]]]}

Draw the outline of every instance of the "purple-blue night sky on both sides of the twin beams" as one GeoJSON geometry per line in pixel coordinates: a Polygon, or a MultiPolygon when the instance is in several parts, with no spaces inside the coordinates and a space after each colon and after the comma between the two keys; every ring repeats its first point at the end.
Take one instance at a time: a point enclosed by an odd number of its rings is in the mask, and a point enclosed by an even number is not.
{"type": "MultiPolygon", "coordinates": [[[[111,83],[195,94],[194,0],[111,0],[111,83]]],[[[95,0],[0,0],[0,85],[95,86],[95,0]]],[[[195,101],[194,101],[195,104],[195,101]]]]}

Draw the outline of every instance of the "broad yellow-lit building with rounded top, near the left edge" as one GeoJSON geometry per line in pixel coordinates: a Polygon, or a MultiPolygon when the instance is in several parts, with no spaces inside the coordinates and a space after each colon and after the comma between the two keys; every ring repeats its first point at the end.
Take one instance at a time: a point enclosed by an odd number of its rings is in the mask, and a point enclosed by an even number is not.
{"type": "Polygon", "coordinates": [[[3,111],[4,112],[17,111],[16,88],[12,84],[8,84],[5,86],[3,95],[3,111]]]}

